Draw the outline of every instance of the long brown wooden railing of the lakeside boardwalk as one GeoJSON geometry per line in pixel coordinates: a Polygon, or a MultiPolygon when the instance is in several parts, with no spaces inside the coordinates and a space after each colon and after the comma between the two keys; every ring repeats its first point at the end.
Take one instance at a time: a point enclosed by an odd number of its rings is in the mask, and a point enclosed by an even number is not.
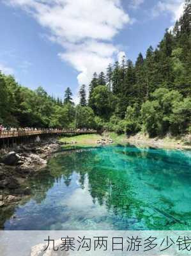
{"type": "Polygon", "coordinates": [[[34,131],[20,130],[20,131],[0,131],[1,138],[15,138],[23,136],[33,136],[40,134],[93,134],[96,133],[95,130],[90,129],[41,129],[34,131]]]}

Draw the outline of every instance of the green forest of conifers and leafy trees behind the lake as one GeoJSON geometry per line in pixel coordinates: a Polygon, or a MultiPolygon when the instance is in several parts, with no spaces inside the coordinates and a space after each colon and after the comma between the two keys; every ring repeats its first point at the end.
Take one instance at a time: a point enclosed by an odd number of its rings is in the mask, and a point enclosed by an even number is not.
{"type": "Polygon", "coordinates": [[[141,131],[151,137],[191,132],[190,13],[187,0],[173,31],[166,29],[157,48],[150,46],[135,63],[124,56],[95,72],[88,88],[80,86],[77,106],[69,87],[64,99],[55,99],[42,87],[30,90],[0,72],[0,124],[141,131]]]}

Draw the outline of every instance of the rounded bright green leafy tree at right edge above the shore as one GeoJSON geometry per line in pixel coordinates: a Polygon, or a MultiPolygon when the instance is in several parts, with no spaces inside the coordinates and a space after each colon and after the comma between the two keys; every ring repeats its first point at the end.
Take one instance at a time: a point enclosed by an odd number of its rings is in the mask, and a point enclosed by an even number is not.
{"type": "Polygon", "coordinates": [[[154,100],[142,104],[142,127],[150,136],[167,132],[180,134],[188,131],[190,124],[190,98],[183,99],[180,92],[166,88],[156,90],[154,100]]]}

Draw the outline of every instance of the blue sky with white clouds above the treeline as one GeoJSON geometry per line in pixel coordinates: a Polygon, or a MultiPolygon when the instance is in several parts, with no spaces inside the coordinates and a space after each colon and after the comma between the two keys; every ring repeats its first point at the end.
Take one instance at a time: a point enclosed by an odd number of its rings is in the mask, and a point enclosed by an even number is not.
{"type": "Polygon", "coordinates": [[[157,47],[184,0],[0,0],[0,70],[77,101],[79,85],[123,54],[157,47]]]}

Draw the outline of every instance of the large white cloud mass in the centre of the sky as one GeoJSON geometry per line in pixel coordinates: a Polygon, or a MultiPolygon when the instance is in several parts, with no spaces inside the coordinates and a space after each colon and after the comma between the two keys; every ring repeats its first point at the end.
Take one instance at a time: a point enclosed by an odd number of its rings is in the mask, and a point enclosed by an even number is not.
{"type": "MultiPolygon", "coordinates": [[[[141,0],[135,0],[140,2],[141,0]]],[[[121,0],[6,0],[19,6],[50,31],[49,38],[63,46],[59,57],[68,61],[88,84],[93,72],[104,70],[118,52],[112,38],[132,20],[121,0]]]]}

